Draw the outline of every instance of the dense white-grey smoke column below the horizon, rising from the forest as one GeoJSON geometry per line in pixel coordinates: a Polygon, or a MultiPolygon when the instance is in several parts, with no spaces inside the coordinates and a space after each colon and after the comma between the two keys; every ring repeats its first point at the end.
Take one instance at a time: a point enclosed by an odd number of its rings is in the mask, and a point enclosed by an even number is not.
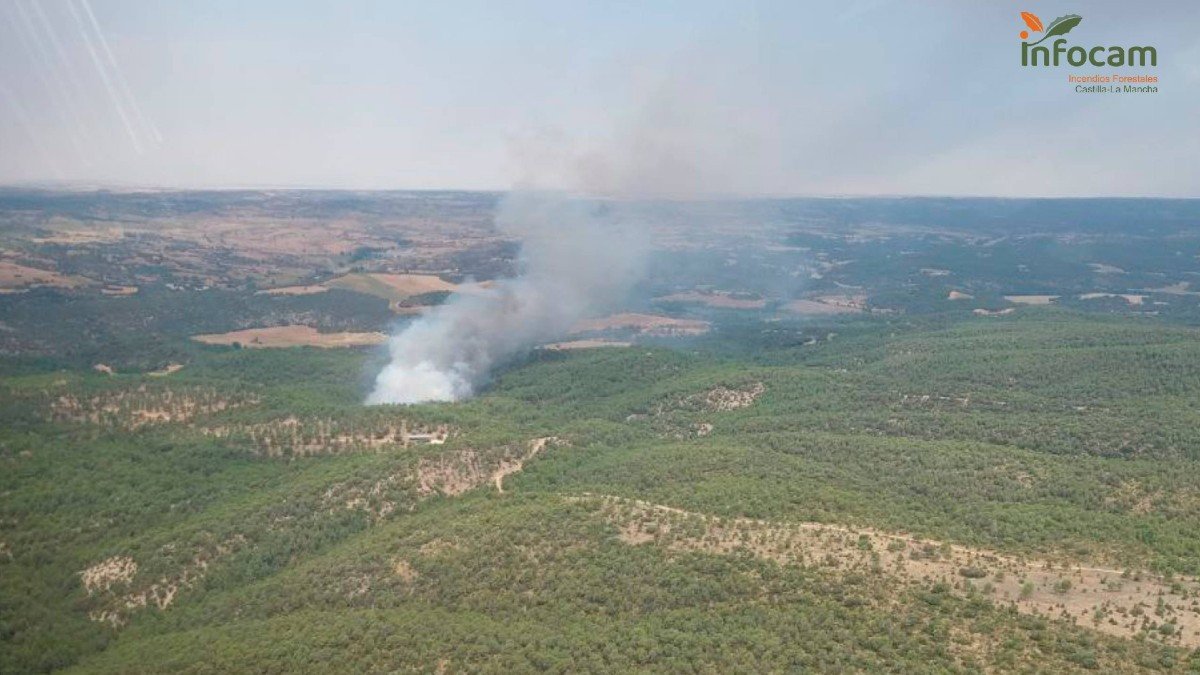
{"type": "Polygon", "coordinates": [[[643,233],[605,202],[516,193],[497,227],[520,239],[520,276],[445,305],[391,338],[391,362],[368,404],[456,401],[496,365],[563,336],[572,323],[619,303],[641,276],[643,233]]]}

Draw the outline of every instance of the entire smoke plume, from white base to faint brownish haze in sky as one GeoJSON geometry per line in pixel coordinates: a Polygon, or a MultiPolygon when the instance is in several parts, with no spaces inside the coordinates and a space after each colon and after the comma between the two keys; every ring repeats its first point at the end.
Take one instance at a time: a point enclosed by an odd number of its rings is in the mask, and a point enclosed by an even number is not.
{"type": "MultiPolygon", "coordinates": [[[[761,145],[746,133],[748,97],[739,86],[712,86],[720,61],[692,56],[649,68],[661,72],[634,85],[635,104],[613,107],[625,113],[610,132],[539,125],[515,139],[521,184],[618,198],[506,197],[497,226],[522,243],[520,275],[484,293],[457,293],[392,336],[391,362],[368,404],[470,396],[497,365],[625,298],[649,250],[646,199],[700,197],[736,183],[761,145]]],[[[739,68],[726,71],[728,82],[745,79],[739,68]]]]}

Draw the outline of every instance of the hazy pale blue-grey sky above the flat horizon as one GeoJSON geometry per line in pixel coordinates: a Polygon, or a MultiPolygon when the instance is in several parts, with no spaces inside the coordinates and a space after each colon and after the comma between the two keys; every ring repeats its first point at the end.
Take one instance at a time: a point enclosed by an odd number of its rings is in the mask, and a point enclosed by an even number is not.
{"type": "Polygon", "coordinates": [[[1192,1],[2,0],[0,68],[0,183],[1200,196],[1192,1]]]}

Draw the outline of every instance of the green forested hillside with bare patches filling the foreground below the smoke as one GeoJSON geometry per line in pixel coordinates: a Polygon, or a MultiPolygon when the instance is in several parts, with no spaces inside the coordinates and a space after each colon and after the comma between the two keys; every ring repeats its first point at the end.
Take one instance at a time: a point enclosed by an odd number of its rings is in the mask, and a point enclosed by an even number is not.
{"type": "Polygon", "coordinates": [[[401,407],[370,351],[11,363],[0,669],[1196,665],[1200,331],[760,328],[401,407]]]}

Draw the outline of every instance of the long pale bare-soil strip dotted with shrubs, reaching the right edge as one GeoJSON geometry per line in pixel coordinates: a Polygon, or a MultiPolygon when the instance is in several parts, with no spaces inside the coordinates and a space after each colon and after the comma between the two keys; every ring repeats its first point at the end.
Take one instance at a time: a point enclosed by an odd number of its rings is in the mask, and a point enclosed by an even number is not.
{"type": "Polygon", "coordinates": [[[584,500],[594,500],[631,545],[750,554],[781,565],[888,574],[910,585],[944,584],[1112,635],[1200,646],[1195,579],[1031,560],[866,527],[718,518],[611,496],[584,500]]]}

